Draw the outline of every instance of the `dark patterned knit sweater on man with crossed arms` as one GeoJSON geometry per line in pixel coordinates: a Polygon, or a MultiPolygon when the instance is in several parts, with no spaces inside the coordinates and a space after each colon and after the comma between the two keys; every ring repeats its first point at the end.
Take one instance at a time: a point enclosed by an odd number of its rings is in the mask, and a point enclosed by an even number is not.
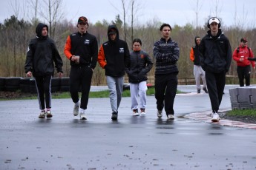
{"type": "Polygon", "coordinates": [[[154,43],[154,58],[156,58],[156,75],[178,73],[177,61],[180,56],[180,48],[171,38],[165,41],[165,38],[154,43]]]}

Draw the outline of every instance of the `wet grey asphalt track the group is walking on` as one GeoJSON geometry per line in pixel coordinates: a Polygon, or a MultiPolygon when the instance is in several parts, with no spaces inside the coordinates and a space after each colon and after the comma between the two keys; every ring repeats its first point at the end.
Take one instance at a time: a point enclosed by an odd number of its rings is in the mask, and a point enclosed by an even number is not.
{"type": "MultiPolygon", "coordinates": [[[[220,109],[231,109],[229,88],[220,109]]],[[[195,92],[194,86],[179,86],[195,92]]],[[[205,93],[177,95],[175,120],[158,119],[154,96],[145,117],[122,98],[118,121],[108,98],[90,98],[88,120],[71,99],[53,99],[53,118],[39,119],[37,100],[0,101],[0,169],[256,169],[256,130],[183,118],[211,110],[205,93]]]]}

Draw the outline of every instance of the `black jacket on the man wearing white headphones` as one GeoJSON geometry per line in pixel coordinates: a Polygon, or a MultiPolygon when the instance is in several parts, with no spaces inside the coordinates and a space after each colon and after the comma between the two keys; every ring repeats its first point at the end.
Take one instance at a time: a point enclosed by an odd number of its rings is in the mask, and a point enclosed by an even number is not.
{"type": "Polygon", "coordinates": [[[229,39],[219,29],[217,36],[209,30],[200,43],[200,59],[203,70],[209,72],[228,72],[232,61],[232,50],[229,39]]]}

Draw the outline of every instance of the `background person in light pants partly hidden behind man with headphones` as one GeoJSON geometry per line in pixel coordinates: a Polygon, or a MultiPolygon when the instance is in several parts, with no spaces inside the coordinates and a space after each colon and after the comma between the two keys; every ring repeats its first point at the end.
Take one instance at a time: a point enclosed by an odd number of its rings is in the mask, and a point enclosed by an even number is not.
{"type": "Polygon", "coordinates": [[[202,81],[203,81],[203,91],[208,93],[208,90],[206,89],[206,72],[203,71],[200,65],[200,56],[202,55],[199,51],[200,41],[201,41],[200,36],[196,36],[194,38],[195,46],[191,47],[190,60],[194,63],[193,73],[194,73],[194,79],[196,81],[197,93],[201,92],[200,78],[202,78],[202,81]]]}

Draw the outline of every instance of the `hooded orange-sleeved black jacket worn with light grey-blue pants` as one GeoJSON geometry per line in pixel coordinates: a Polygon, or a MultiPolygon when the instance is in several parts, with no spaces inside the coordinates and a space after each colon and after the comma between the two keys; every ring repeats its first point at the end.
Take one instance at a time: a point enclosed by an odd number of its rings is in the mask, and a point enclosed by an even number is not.
{"type": "Polygon", "coordinates": [[[108,33],[111,29],[116,30],[116,39],[112,41],[108,35],[108,41],[99,49],[98,62],[105,69],[105,75],[121,77],[125,75],[125,67],[130,65],[130,52],[127,43],[119,39],[117,27],[110,25],[108,33]]]}

